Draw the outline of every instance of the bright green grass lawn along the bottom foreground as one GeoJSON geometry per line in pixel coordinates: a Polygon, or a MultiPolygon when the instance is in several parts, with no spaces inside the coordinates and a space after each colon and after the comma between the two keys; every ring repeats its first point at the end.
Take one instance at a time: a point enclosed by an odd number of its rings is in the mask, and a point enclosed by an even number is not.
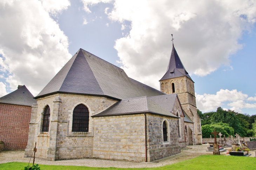
{"type": "MultiPolygon", "coordinates": [[[[10,162],[0,164],[1,170],[21,170],[27,163],[10,162]]],[[[255,157],[237,157],[237,156],[224,156],[224,155],[202,155],[190,160],[182,161],[179,163],[166,165],[159,168],[92,168],[92,167],[78,167],[78,166],[61,166],[61,165],[39,165],[41,170],[236,170],[236,169],[254,169],[256,170],[255,157]]]]}

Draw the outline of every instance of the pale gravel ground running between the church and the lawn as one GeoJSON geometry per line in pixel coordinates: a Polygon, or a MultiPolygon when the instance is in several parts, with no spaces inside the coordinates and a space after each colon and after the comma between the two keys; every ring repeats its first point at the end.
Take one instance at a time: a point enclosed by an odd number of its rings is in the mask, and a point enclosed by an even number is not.
{"type": "MultiPolygon", "coordinates": [[[[206,152],[209,144],[187,146],[181,150],[181,153],[164,158],[162,160],[157,160],[156,162],[130,162],[130,161],[113,161],[113,160],[102,160],[95,158],[85,158],[79,160],[61,160],[61,161],[47,161],[40,158],[35,158],[36,164],[45,165],[74,165],[74,166],[86,166],[86,167],[116,167],[116,168],[151,168],[151,167],[161,167],[163,165],[173,164],[176,162],[184,161],[187,159],[195,158],[200,155],[211,155],[212,152],[206,152]]],[[[225,148],[227,149],[227,148],[225,148]]],[[[255,152],[250,151],[250,157],[255,157],[255,152]]],[[[221,153],[221,155],[227,155],[226,152],[221,153]]],[[[0,153],[0,163],[7,162],[29,162],[30,158],[24,157],[24,151],[2,151],[0,153]]],[[[33,162],[33,159],[31,159],[33,162]]]]}

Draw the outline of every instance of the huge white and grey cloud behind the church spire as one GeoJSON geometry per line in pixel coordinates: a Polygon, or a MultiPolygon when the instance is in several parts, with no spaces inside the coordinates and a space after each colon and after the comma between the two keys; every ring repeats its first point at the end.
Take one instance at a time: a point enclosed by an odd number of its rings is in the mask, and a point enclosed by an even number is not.
{"type": "MultiPolygon", "coordinates": [[[[108,0],[82,0],[90,5],[108,0]]],[[[122,68],[127,75],[159,89],[152,81],[164,75],[171,54],[171,33],[175,48],[187,71],[205,76],[242,48],[244,30],[253,27],[255,3],[250,0],[115,0],[105,13],[112,21],[130,21],[130,32],[116,40],[122,68]],[[138,74],[139,73],[139,74],[138,74]]],[[[123,27],[121,28],[123,29],[123,27]]],[[[231,68],[232,69],[232,68],[231,68]]]]}

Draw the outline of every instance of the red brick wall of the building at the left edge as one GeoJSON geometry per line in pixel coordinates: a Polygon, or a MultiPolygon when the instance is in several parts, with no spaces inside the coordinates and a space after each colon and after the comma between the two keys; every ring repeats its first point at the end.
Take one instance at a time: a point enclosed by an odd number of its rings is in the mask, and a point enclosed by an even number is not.
{"type": "Polygon", "coordinates": [[[4,150],[23,150],[27,146],[30,106],[0,103],[0,141],[4,150]]]}

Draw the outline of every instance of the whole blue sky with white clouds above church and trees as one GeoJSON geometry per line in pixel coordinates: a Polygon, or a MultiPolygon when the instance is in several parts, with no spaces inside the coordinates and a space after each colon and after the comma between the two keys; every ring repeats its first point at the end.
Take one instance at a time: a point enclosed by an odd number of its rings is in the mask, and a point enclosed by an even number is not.
{"type": "Polygon", "coordinates": [[[160,90],[171,34],[197,108],[256,114],[255,0],[1,0],[0,97],[36,96],[80,48],[160,90]]]}

